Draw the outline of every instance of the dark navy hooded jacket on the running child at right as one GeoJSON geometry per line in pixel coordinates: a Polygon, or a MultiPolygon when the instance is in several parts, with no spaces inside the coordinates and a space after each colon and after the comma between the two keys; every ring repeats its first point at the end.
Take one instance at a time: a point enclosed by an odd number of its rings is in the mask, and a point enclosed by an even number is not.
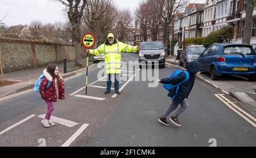
{"type": "MultiPolygon", "coordinates": [[[[191,89],[193,88],[193,85],[195,83],[195,74],[199,71],[201,71],[202,67],[199,62],[192,61],[188,65],[187,71],[189,72],[189,79],[187,82],[180,85],[179,90],[177,91],[177,95],[175,96],[174,100],[181,103],[185,98],[188,98],[189,93],[191,92],[191,89]]],[[[163,84],[177,84],[182,82],[186,78],[186,74],[184,72],[181,72],[179,76],[176,76],[175,78],[165,78],[160,81],[160,83],[163,84]]],[[[168,96],[173,97],[176,92],[176,88],[172,88],[168,96]]]]}

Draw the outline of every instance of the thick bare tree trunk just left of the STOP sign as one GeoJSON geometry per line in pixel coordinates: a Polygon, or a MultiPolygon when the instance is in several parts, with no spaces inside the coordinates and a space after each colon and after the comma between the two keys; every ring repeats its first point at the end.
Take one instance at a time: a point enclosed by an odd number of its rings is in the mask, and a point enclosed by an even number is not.
{"type": "Polygon", "coordinates": [[[75,42],[75,65],[82,66],[82,52],[81,52],[81,17],[84,11],[86,0],[57,0],[65,7],[68,14],[69,21],[71,22],[72,41],[75,42]]]}

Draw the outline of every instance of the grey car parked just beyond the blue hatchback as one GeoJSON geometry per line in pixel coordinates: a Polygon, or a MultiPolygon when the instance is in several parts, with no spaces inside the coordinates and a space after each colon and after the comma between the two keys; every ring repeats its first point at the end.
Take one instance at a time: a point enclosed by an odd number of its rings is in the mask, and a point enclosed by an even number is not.
{"type": "Polygon", "coordinates": [[[189,65],[190,62],[196,61],[199,57],[199,53],[203,53],[205,47],[203,45],[190,45],[187,46],[187,49],[182,51],[179,56],[179,65],[184,65],[185,68],[189,65]]]}

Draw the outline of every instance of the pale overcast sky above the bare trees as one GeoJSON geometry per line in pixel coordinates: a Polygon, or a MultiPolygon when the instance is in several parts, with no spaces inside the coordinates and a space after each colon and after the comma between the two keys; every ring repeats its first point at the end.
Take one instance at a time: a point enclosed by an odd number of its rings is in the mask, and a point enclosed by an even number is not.
{"type": "MultiPolygon", "coordinates": [[[[133,12],[141,0],[114,0],[119,8],[130,8],[133,12]]],[[[204,3],[205,0],[191,0],[190,2],[204,3]]],[[[32,20],[43,23],[65,22],[61,3],[52,0],[0,0],[0,20],[10,9],[9,14],[2,21],[6,25],[30,24],[32,20]]]]}

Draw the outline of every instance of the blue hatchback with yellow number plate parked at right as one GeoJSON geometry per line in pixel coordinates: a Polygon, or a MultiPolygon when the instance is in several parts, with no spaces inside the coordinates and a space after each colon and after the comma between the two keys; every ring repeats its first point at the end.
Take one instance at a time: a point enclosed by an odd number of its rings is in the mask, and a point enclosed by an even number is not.
{"type": "Polygon", "coordinates": [[[199,55],[198,62],[212,80],[218,80],[222,74],[256,80],[256,53],[251,45],[212,44],[199,55]]]}

